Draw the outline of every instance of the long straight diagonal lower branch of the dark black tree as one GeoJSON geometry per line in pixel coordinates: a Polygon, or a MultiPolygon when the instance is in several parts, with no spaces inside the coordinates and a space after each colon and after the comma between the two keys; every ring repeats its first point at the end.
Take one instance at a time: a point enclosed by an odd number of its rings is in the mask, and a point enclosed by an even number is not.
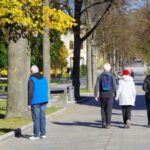
{"type": "Polygon", "coordinates": [[[93,25],[92,25],[93,27],[81,38],[81,42],[86,40],[92,34],[92,32],[95,30],[95,28],[101,22],[101,20],[105,17],[106,13],[109,11],[111,6],[112,6],[112,3],[109,3],[107,8],[105,9],[104,13],[102,14],[102,16],[98,17],[98,19],[93,23],[93,25]]]}

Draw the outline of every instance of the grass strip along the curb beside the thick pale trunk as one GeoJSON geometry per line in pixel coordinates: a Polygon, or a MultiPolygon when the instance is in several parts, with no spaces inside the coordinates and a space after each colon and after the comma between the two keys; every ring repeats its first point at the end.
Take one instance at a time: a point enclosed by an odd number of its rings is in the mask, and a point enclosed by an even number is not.
{"type": "MultiPolygon", "coordinates": [[[[56,112],[60,107],[49,107],[46,109],[46,115],[56,112]]],[[[32,121],[31,115],[24,117],[5,118],[6,114],[6,100],[0,101],[0,135],[13,131],[23,125],[32,121]]]]}

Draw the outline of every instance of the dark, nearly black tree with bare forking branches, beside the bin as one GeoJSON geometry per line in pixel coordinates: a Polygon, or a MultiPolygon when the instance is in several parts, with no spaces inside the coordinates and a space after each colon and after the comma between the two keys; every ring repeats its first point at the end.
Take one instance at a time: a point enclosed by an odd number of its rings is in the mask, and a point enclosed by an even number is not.
{"type": "Polygon", "coordinates": [[[80,49],[82,42],[86,40],[96,29],[98,24],[101,22],[101,20],[106,15],[106,12],[110,9],[112,5],[112,1],[110,0],[104,0],[104,1],[97,1],[89,4],[85,8],[82,9],[83,6],[83,0],[76,0],[74,1],[75,5],[75,11],[74,11],[74,18],[76,19],[77,26],[73,27],[74,31],[74,57],[73,57],[73,86],[75,87],[75,99],[77,100],[80,97],[80,49]],[[81,16],[82,14],[89,8],[100,5],[106,2],[105,10],[101,15],[93,21],[91,28],[87,31],[87,33],[81,37],[81,16]]]}

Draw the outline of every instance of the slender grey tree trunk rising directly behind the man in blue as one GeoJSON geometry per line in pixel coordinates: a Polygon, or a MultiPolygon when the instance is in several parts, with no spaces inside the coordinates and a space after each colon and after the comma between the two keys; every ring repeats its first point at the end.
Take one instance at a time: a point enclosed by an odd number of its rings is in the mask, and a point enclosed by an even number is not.
{"type": "MultiPolygon", "coordinates": [[[[44,0],[44,5],[49,6],[50,1],[44,0]]],[[[48,83],[50,83],[50,40],[49,29],[44,28],[43,35],[43,73],[47,77],[48,83]]],[[[50,86],[48,88],[50,92],[50,86]]],[[[50,104],[50,102],[49,102],[50,104]]]]}

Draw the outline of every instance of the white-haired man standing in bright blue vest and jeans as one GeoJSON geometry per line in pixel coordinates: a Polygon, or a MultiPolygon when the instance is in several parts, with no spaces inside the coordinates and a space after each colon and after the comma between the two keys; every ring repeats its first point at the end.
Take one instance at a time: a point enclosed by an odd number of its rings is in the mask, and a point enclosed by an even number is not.
{"type": "Polygon", "coordinates": [[[28,109],[31,110],[33,133],[30,140],[46,138],[45,111],[48,103],[48,82],[45,76],[39,73],[37,66],[31,67],[31,76],[28,81],[28,109]]]}

